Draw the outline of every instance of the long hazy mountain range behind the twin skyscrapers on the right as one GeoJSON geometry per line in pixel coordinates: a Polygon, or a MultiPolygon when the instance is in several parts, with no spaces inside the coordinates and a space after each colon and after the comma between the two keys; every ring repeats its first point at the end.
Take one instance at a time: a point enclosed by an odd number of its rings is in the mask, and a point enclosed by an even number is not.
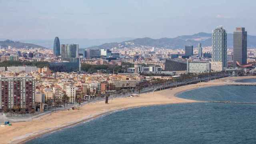
{"type": "MultiPolygon", "coordinates": [[[[233,34],[228,34],[227,37],[228,48],[233,48],[233,34]]],[[[247,40],[248,48],[256,48],[256,36],[248,35],[247,40]]],[[[125,45],[125,42],[132,42],[136,46],[152,46],[157,48],[180,49],[184,48],[185,45],[193,45],[194,47],[197,47],[198,43],[202,43],[202,46],[212,46],[212,34],[200,32],[198,34],[178,36],[176,38],[136,38],[134,40],[127,40],[120,43],[106,43],[100,46],[92,46],[90,48],[113,48],[118,47],[119,44],[125,45]]]]}

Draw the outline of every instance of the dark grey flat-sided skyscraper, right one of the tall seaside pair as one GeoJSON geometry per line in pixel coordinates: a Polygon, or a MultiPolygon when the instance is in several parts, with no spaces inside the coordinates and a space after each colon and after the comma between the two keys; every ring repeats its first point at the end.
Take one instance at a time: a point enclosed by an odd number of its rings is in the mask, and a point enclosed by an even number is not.
{"type": "Polygon", "coordinates": [[[240,64],[247,64],[247,32],[238,27],[234,32],[233,60],[240,64]]]}

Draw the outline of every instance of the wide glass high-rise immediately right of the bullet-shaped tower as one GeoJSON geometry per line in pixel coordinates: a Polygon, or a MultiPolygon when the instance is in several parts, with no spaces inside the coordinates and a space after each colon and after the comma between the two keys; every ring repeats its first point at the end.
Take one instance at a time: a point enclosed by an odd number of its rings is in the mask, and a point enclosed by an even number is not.
{"type": "Polygon", "coordinates": [[[78,44],[62,44],[61,58],[78,58],[78,44]]]}

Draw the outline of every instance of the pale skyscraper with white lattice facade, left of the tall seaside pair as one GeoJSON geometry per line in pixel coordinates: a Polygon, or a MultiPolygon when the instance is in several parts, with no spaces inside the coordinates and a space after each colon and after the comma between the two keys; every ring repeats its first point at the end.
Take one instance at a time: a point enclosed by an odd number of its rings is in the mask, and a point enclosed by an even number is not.
{"type": "Polygon", "coordinates": [[[223,26],[212,30],[212,61],[222,62],[222,70],[227,68],[227,32],[223,26]]]}

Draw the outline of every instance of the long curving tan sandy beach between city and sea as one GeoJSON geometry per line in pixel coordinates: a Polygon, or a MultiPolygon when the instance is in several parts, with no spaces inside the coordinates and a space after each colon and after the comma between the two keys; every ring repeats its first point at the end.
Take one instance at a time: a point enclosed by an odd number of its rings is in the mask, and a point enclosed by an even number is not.
{"type": "Polygon", "coordinates": [[[30,140],[47,132],[59,130],[81,121],[90,120],[115,110],[160,104],[198,102],[177,98],[175,95],[179,92],[194,88],[232,84],[234,80],[245,78],[256,78],[256,76],[222,78],[210,82],[181,86],[173,88],[172,90],[157,91],[154,92],[154,94],[153,92],[144,93],[140,94],[139,97],[110,99],[109,104],[105,104],[104,102],[91,103],[82,106],[80,110],[52,112],[33,119],[32,122],[16,122],[12,123],[12,126],[0,127],[0,144],[24,143],[26,140],[30,140]]]}

